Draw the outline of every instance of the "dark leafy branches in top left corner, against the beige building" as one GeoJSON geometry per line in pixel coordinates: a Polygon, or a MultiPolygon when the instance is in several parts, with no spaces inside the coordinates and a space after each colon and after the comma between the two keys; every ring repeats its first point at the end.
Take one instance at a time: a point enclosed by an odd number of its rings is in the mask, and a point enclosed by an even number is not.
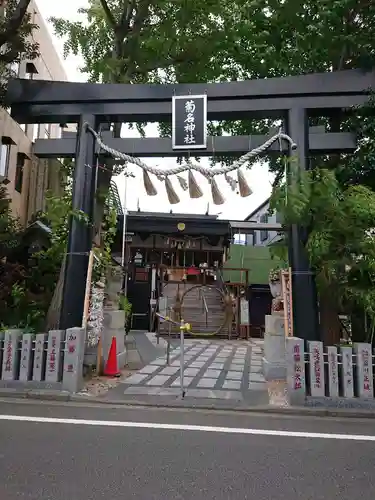
{"type": "Polygon", "coordinates": [[[6,82],[14,78],[13,67],[21,58],[33,60],[39,46],[31,35],[38,26],[28,12],[31,0],[1,0],[0,2],[0,102],[6,92],[6,82]]]}

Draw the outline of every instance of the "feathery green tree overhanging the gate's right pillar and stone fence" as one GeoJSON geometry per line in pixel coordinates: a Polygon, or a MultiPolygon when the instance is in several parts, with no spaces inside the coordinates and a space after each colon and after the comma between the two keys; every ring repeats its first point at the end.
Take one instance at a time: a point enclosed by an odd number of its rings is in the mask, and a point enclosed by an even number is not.
{"type": "Polygon", "coordinates": [[[285,224],[308,228],[306,248],[317,275],[325,341],[338,341],[339,312],[360,307],[373,327],[375,193],[363,185],[342,186],[333,170],[314,169],[288,188],[280,185],[271,208],[283,214],[285,224]]]}

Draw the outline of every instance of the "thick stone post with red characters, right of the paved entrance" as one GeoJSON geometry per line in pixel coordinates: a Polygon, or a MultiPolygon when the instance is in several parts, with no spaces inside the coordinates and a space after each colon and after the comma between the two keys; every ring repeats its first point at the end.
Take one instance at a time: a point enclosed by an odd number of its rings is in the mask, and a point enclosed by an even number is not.
{"type": "Polygon", "coordinates": [[[287,337],[285,340],[289,400],[291,404],[304,404],[306,398],[304,340],[298,337],[287,337]]]}

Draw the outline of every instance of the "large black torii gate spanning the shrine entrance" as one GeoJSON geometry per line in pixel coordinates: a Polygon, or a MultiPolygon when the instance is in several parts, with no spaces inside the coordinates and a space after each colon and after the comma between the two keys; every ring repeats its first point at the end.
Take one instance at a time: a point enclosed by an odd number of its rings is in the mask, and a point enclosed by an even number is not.
{"type": "MultiPolygon", "coordinates": [[[[270,78],[231,83],[179,85],[127,85],[12,80],[7,105],[19,123],[77,123],[78,135],[62,139],[38,139],[34,154],[41,158],[75,157],[73,207],[92,217],[94,167],[100,149],[85,129],[118,122],[171,121],[172,97],[207,95],[209,120],[281,119],[284,129],[297,149],[268,150],[297,158],[299,168],[309,168],[309,156],[353,152],[355,137],[344,132],[326,132],[309,127],[311,117],[340,117],[343,109],[367,102],[375,83],[375,73],[360,70],[270,78]]],[[[110,147],[134,156],[178,156],[170,139],[118,139],[103,133],[110,147]]],[[[241,154],[259,146],[265,136],[208,138],[207,147],[191,150],[191,156],[241,154]],[[214,145],[214,147],[213,147],[214,145]]],[[[267,151],[267,152],[268,152],[267,151]]],[[[289,260],[293,279],[293,315],[298,336],[306,340],[319,338],[318,308],[314,276],[301,243],[303,229],[292,226],[289,232],[289,260]]],[[[87,224],[72,219],[66,258],[66,275],[61,311],[61,328],[81,324],[85,294],[88,254],[92,234],[87,224]]]]}

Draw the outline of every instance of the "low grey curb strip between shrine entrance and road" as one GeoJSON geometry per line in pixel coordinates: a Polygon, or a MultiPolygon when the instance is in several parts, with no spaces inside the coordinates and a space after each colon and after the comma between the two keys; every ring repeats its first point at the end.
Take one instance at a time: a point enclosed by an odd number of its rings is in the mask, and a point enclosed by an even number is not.
{"type": "Polygon", "coordinates": [[[42,390],[25,390],[16,389],[1,389],[0,399],[13,400],[35,400],[35,401],[56,401],[63,403],[76,403],[84,406],[85,404],[97,405],[98,407],[108,406],[123,406],[123,407],[148,407],[148,408],[166,408],[166,409],[191,409],[205,411],[230,411],[241,414],[269,414],[280,416],[310,416],[310,417],[331,417],[331,418],[364,418],[375,419],[375,411],[353,408],[313,408],[306,406],[295,407],[275,407],[275,406],[225,406],[217,403],[207,404],[195,401],[144,401],[144,400],[121,400],[121,399],[99,399],[90,396],[78,394],[69,394],[62,391],[42,391],[42,390]]]}

